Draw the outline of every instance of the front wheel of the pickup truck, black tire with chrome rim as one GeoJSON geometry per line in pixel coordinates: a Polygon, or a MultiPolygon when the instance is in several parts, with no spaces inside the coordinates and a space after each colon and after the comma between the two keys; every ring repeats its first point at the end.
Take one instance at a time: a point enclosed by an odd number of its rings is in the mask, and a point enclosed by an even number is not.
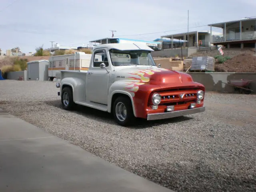
{"type": "Polygon", "coordinates": [[[131,125],[135,120],[135,116],[133,114],[132,103],[130,101],[130,98],[123,96],[118,97],[114,101],[113,114],[116,122],[119,125],[131,125]]]}

